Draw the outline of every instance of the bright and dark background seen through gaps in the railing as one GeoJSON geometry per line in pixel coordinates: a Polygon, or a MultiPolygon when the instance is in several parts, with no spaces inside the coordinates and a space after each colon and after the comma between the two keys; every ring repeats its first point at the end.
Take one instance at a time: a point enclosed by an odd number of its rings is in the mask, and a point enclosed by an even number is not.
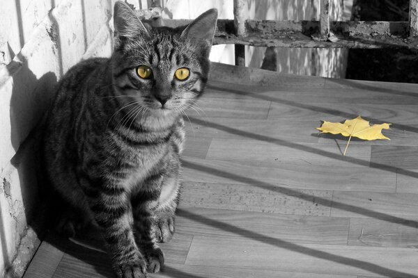
{"type": "MultiPolygon", "coordinates": [[[[409,0],[334,0],[334,21],[408,22],[409,0]]],[[[319,0],[248,0],[249,19],[319,20],[319,0]]],[[[233,0],[164,0],[162,17],[193,19],[208,8],[233,19],[233,0]]],[[[245,47],[246,66],[285,74],[392,82],[418,82],[418,56],[411,49],[306,49],[245,47]]],[[[216,45],[211,60],[234,64],[233,45],[216,45]]]]}

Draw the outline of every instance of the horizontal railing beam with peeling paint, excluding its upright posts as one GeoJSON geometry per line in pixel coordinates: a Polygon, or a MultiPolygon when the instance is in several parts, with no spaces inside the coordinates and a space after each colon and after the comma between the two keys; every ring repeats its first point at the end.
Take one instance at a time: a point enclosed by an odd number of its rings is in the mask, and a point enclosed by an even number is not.
{"type": "MultiPolygon", "coordinates": [[[[418,1],[418,0],[417,0],[418,1]]],[[[233,21],[219,19],[213,44],[244,44],[254,47],[307,48],[410,48],[418,49],[418,38],[408,38],[408,22],[331,22],[332,41],[319,40],[315,21],[247,21],[245,37],[235,35],[233,21]],[[232,30],[231,30],[232,29],[232,30]]]]}

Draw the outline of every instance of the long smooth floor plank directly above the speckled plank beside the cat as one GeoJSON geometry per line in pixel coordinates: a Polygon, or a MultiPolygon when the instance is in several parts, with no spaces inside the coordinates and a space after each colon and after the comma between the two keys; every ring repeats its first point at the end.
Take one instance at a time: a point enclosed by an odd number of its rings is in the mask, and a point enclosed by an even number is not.
{"type": "Polygon", "coordinates": [[[396,174],[377,168],[274,165],[238,161],[183,159],[183,179],[202,183],[249,184],[265,188],[395,192],[396,174]]]}

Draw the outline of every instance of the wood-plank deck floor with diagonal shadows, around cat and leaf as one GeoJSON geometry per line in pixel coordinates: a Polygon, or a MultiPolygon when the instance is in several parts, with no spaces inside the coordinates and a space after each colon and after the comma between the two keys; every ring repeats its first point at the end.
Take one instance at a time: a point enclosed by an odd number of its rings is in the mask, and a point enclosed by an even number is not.
{"type": "MultiPolygon", "coordinates": [[[[199,107],[176,234],[149,277],[418,277],[418,85],[214,64],[199,107]],[[392,123],[391,140],[343,156],[347,138],[318,136],[357,115],[392,123]]],[[[86,244],[49,236],[24,277],[113,277],[86,244]]]]}

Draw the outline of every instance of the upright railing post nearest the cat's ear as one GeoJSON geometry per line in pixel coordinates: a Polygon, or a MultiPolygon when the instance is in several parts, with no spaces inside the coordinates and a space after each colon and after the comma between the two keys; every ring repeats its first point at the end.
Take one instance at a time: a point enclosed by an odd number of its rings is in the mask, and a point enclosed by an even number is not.
{"type": "MultiPolygon", "coordinates": [[[[235,34],[238,37],[245,37],[247,35],[245,30],[245,15],[247,15],[247,0],[233,0],[233,24],[235,34]]],[[[235,65],[245,67],[245,46],[242,44],[235,44],[235,65]]]]}

